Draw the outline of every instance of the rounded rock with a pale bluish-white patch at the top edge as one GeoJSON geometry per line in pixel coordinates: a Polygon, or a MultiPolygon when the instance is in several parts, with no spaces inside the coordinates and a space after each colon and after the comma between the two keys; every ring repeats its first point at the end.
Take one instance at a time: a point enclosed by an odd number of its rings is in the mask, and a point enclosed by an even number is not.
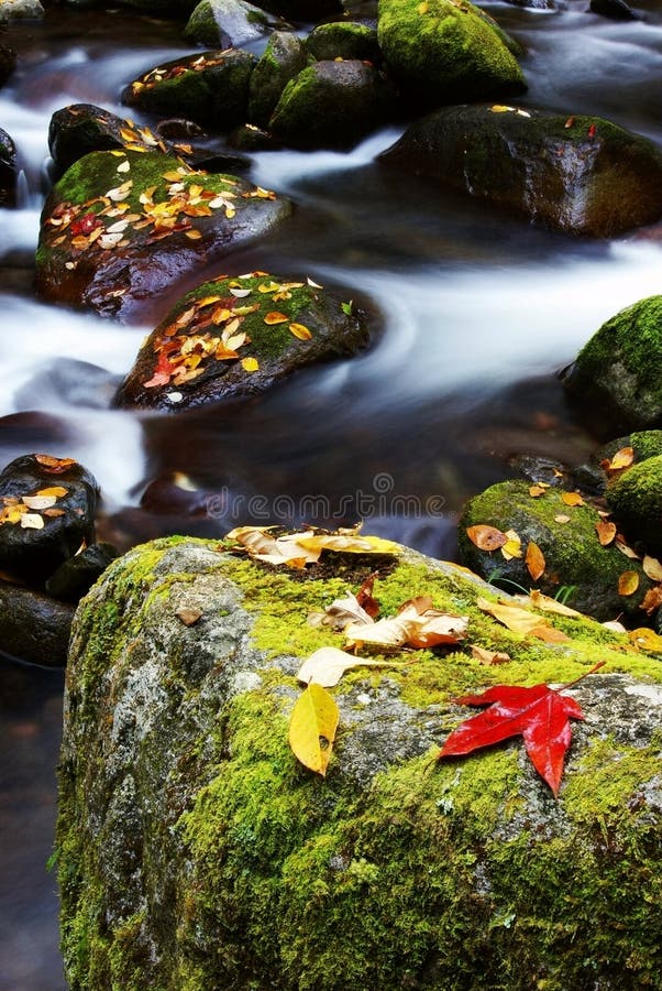
{"type": "Polygon", "coordinates": [[[246,0],[201,0],[191,13],[184,36],[196,44],[242,47],[287,26],[246,0]]]}

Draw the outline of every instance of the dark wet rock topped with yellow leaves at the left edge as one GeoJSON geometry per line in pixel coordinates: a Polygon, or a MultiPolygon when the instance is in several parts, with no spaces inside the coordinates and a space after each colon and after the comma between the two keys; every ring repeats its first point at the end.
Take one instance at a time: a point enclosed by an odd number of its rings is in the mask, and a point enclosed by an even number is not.
{"type": "Polygon", "coordinates": [[[95,538],[99,489],[73,458],[24,455],[0,472],[0,568],[40,586],[95,538]]]}

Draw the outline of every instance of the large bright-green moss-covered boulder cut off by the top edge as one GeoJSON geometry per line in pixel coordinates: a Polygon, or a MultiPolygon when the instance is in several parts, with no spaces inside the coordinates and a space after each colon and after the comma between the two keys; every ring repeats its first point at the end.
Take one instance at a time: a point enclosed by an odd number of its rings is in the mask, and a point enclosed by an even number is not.
{"type": "Polygon", "coordinates": [[[378,33],[388,68],[426,107],[526,88],[499,31],[468,0],[379,0],[378,33]]]}

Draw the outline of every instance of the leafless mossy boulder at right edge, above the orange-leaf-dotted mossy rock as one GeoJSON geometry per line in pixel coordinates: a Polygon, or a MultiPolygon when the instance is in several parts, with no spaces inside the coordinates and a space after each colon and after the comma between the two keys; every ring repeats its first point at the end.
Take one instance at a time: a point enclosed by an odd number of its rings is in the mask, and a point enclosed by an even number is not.
{"type": "Polygon", "coordinates": [[[627,535],[650,554],[662,554],[662,454],[611,479],[606,494],[627,535]]]}

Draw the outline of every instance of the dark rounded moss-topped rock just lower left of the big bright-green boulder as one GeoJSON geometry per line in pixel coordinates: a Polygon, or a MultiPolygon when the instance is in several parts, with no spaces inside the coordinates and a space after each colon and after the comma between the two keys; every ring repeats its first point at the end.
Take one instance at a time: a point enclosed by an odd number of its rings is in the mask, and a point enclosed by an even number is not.
{"type": "Polygon", "coordinates": [[[316,62],[285,87],[269,130],[290,148],[350,149],[386,120],[393,92],[363,62],[316,62]]]}

